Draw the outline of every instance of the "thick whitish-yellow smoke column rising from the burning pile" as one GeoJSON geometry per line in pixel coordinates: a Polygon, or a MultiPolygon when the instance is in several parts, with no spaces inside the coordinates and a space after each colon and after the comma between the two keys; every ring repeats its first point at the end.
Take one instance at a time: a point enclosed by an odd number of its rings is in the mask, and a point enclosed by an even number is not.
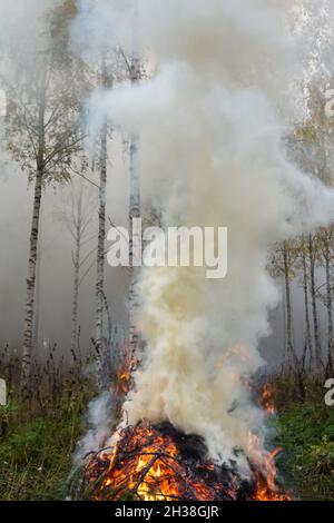
{"type": "MultiPolygon", "coordinates": [[[[97,117],[140,135],[143,186],[166,226],[228,227],[226,279],[207,280],[200,268],[143,270],[138,320],[147,349],[126,403],[130,423],[167,418],[203,435],[225,462],[236,447],[249,453],[249,432],[263,427],[243,378],[263,364],[258,342],[279,300],[268,250],[334,218],[333,190],[284,150],[299,96],[289,86],[303,73],[289,3],[141,0],[143,48],[159,72],[92,101],[97,117]]],[[[102,28],[105,9],[112,19],[117,2],[98,4],[94,23],[102,28]]],[[[86,22],[84,10],[77,24],[86,22]]],[[[237,461],[245,470],[242,454],[237,461]]]]}

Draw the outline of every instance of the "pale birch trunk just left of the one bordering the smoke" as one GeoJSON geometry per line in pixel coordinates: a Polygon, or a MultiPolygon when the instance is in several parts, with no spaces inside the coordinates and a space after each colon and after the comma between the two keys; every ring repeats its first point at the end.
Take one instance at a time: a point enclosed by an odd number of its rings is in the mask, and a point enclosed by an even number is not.
{"type": "MultiPolygon", "coordinates": [[[[107,70],[102,63],[102,85],[107,86],[107,70]]],[[[99,184],[99,230],[97,251],[96,280],[96,351],[97,351],[97,385],[100,391],[106,388],[108,372],[106,372],[106,343],[104,338],[104,296],[105,296],[105,253],[106,253],[106,196],[107,196],[107,148],[108,124],[104,122],[100,138],[100,184],[99,184]]]]}

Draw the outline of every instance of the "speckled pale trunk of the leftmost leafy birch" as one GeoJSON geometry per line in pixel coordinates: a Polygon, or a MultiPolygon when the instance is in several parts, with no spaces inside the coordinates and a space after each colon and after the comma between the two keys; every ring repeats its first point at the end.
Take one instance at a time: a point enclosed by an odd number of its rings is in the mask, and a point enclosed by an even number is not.
{"type": "Polygon", "coordinates": [[[31,388],[31,359],[35,320],[35,294],[36,294],[36,269],[39,239],[39,220],[42,198],[42,179],[45,169],[45,116],[46,116],[46,91],[47,91],[47,68],[43,67],[40,88],[39,105],[39,137],[37,152],[37,171],[35,180],[33,211],[29,245],[29,263],[27,277],[27,300],[23,327],[22,365],[21,365],[21,393],[22,398],[28,399],[31,388]]]}

